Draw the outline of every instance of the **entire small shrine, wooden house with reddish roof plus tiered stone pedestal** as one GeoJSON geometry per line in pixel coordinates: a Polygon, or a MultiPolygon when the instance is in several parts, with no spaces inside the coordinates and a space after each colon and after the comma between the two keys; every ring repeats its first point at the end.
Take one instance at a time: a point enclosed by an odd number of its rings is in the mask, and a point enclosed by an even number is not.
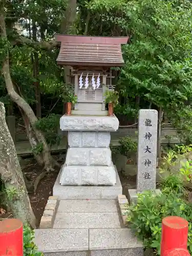
{"type": "Polygon", "coordinates": [[[71,67],[70,82],[78,98],[71,115],[60,118],[69,144],[59,177],[62,186],[114,186],[117,182],[110,132],[117,131],[119,121],[105,111],[105,91],[115,88],[111,68],[123,65],[121,44],[127,39],[56,35],[61,42],[57,63],[71,67]]]}

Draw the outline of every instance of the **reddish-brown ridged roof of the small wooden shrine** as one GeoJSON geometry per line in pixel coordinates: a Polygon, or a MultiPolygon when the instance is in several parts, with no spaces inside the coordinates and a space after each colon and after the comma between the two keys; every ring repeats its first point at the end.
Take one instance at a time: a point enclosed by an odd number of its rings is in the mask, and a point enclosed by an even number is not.
{"type": "Polygon", "coordinates": [[[61,42],[59,65],[121,67],[124,64],[121,45],[129,37],[55,35],[61,42]]]}

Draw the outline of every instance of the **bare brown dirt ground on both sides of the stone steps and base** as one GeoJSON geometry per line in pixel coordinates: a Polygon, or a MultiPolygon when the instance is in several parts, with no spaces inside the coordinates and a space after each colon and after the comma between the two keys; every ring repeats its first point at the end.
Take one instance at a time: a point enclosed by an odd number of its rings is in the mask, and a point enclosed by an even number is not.
{"type": "MultiPolygon", "coordinates": [[[[64,155],[54,156],[57,161],[62,164],[65,161],[64,155]]],[[[33,158],[22,159],[20,165],[27,177],[27,179],[33,184],[36,177],[42,172],[42,167],[38,166],[33,158]]],[[[38,186],[36,193],[29,193],[29,198],[31,202],[32,209],[34,211],[37,223],[40,223],[41,216],[44,212],[45,206],[49,196],[53,195],[53,185],[59,173],[59,168],[52,172],[45,178],[43,178],[38,186]]],[[[128,188],[136,187],[136,176],[124,176],[121,172],[119,173],[121,180],[121,185],[123,188],[123,194],[127,196],[128,188]]],[[[2,218],[12,218],[11,212],[9,210],[5,211],[5,207],[0,205],[0,220],[2,218]]]]}

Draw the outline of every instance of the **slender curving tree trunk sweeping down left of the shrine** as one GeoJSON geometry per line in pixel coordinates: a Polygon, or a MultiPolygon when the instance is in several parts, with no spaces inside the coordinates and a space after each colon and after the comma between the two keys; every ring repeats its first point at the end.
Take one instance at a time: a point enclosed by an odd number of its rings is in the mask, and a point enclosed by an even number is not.
{"type": "MultiPolygon", "coordinates": [[[[5,17],[4,17],[4,6],[3,5],[1,6],[1,9],[0,9],[0,28],[1,28],[2,39],[7,40],[5,17]]],[[[53,170],[52,163],[54,161],[51,157],[49,146],[46,142],[44,135],[41,133],[41,131],[36,129],[36,122],[38,121],[38,119],[35,116],[30,105],[25,101],[24,98],[20,97],[14,90],[13,82],[11,80],[10,71],[9,71],[9,52],[7,52],[7,56],[4,60],[2,73],[5,78],[6,88],[7,88],[9,96],[25,112],[25,114],[27,115],[29,122],[32,126],[32,129],[35,133],[35,137],[36,137],[38,143],[42,144],[42,158],[43,158],[45,169],[53,170]]]]}

